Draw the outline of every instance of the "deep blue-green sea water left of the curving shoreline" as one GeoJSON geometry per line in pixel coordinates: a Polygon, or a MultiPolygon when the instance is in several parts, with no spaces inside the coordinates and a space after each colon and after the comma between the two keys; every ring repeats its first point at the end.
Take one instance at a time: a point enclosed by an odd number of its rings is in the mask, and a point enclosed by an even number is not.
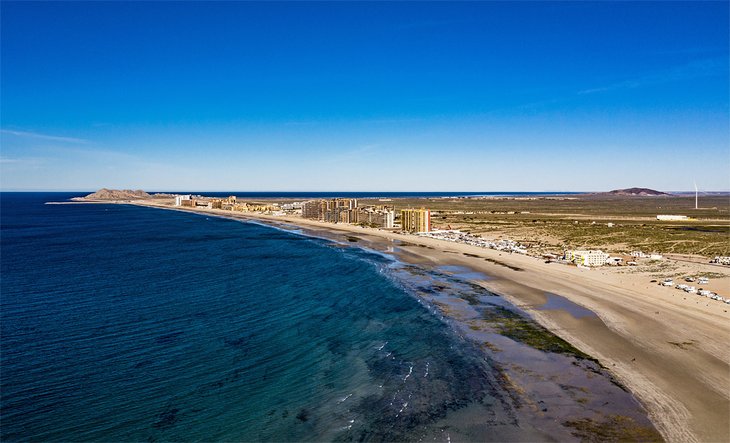
{"type": "Polygon", "coordinates": [[[0,196],[3,441],[545,438],[381,255],[59,197],[0,196]]]}

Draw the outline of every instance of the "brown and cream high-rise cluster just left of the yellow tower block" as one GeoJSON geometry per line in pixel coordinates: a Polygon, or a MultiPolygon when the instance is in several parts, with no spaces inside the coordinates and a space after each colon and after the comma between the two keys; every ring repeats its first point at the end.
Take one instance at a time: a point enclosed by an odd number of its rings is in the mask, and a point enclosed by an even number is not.
{"type": "Polygon", "coordinates": [[[310,200],[301,204],[302,217],[328,223],[356,223],[378,228],[395,227],[395,211],[388,206],[358,206],[354,198],[310,200]]]}

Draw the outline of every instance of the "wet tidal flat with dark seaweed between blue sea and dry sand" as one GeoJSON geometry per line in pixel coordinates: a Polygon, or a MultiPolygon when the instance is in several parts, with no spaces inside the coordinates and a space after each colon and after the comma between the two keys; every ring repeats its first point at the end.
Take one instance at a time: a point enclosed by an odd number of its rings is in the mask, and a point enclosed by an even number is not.
{"type": "MultiPolygon", "coordinates": [[[[343,237],[351,241],[351,234],[337,231],[307,227],[300,233],[341,245],[346,245],[343,237]]],[[[606,368],[486,290],[481,283],[491,280],[489,275],[464,265],[428,264],[431,260],[418,254],[422,246],[398,240],[360,235],[358,247],[389,257],[387,275],[480,348],[510,397],[516,422],[561,441],[662,440],[644,408],[606,368]]],[[[532,309],[600,321],[593,311],[552,293],[532,309]]]]}

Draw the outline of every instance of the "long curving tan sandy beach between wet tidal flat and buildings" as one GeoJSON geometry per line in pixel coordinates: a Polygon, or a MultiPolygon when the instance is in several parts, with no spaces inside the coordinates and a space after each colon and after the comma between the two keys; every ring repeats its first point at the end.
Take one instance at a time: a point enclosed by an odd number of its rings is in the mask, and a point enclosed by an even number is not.
{"type": "MultiPolygon", "coordinates": [[[[145,201],[135,204],[173,209],[145,201]]],[[[580,269],[520,254],[295,217],[191,212],[291,224],[343,239],[355,236],[362,246],[394,250],[406,262],[465,266],[484,273],[490,278],[479,284],[607,367],[644,405],[666,440],[730,441],[730,306],[726,304],[661,287],[650,282],[649,273],[627,273],[629,268],[580,269]],[[394,244],[398,246],[393,248],[394,244]],[[567,298],[597,317],[539,309],[548,294],[567,298]]],[[[692,266],[717,272],[710,265],[692,266]]],[[[726,289],[728,280],[717,279],[715,285],[726,289]]]]}

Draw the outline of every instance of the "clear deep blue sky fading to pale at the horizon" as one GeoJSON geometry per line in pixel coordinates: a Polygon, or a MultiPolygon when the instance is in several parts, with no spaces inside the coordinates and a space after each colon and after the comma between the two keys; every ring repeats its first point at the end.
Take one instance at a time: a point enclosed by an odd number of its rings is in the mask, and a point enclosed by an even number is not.
{"type": "Polygon", "coordinates": [[[5,2],[3,190],[730,190],[728,2],[5,2]]]}

